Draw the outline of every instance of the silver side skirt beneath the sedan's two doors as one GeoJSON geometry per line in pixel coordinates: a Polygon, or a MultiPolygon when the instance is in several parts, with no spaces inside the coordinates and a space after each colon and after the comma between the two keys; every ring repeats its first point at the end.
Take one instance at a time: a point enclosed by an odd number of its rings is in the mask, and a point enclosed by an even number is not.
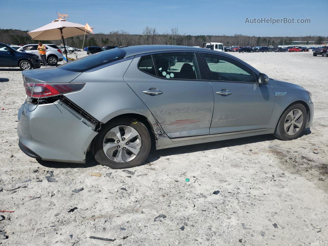
{"type": "Polygon", "coordinates": [[[262,134],[272,134],[274,132],[275,129],[257,129],[257,130],[234,132],[234,133],[219,133],[219,134],[212,134],[212,135],[181,137],[181,138],[174,138],[174,139],[166,136],[158,139],[156,149],[161,150],[161,149],[167,149],[167,148],[179,147],[185,145],[209,143],[209,142],[216,142],[216,141],[228,140],[234,138],[262,135],[262,134]]]}

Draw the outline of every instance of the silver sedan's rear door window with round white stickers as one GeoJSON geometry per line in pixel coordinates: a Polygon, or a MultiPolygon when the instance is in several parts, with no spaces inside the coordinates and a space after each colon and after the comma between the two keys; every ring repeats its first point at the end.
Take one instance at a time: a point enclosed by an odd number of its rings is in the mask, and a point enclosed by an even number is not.
{"type": "Polygon", "coordinates": [[[200,79],[195,53],[162,53],[153,57],[160,78],[200,79]]]}

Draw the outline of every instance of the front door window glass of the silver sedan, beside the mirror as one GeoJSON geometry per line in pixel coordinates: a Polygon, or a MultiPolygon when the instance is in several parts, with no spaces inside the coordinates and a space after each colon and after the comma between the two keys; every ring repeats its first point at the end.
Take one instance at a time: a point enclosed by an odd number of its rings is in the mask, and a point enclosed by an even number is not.
{"type": "Polygon", "coordinates": [[[255,82],[254,72],[232,59],[212,54],[204,54],[213,80],[255,82]]]}

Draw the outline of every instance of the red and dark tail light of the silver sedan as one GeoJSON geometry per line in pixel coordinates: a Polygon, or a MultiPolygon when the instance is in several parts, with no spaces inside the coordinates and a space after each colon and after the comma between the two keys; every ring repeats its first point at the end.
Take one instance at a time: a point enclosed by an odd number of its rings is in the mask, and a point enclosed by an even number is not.
{"type": "Polygon", "coordinates": [[[85,83],[24,83],[25,92],[32,98],[47,98],[80,91],[85,83]]]}

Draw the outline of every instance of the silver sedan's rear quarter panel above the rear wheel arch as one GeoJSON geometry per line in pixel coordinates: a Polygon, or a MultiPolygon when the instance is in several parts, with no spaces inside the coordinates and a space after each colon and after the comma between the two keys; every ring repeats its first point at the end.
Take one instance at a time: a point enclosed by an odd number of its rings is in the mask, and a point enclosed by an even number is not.
{"type": "Polygon", "coordinates": [[[154,116],[123,80],[131,61],[132,59],[96,71],[83,72],[72,81],[86,83],[83,90],[65,96],[101,123],[127,113],[143,115],[148,119],[157,138],[158,134],[161,135],[161,130],[154,116]]]}

